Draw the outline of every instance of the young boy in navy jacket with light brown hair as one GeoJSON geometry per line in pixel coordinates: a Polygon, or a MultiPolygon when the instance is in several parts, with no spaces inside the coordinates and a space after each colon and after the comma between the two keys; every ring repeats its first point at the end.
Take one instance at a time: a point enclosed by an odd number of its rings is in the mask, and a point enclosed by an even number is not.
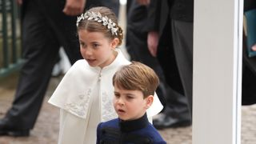
{"type": "Polygon", "coordinates": [[[123,66],[114,74],[114,109],[118,118],[98,124],[98,144],[166,143],[146,117],[158,82],[154,70],[140,62],[123,66]]]}

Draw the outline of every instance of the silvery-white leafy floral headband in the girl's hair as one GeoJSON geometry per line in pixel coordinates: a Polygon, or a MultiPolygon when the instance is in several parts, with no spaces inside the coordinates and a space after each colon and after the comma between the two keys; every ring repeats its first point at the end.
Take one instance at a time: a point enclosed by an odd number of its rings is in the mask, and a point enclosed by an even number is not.
{"type": "Polygon", "coordinates": [[[118,35],[118,27],[117,25],[112,22],[112,20],[110,18],[102,17],[102,14],[100,14],[98,12],[98,14],[95,14],[94,12],[86,12],[84,14],[81,14],[80,16],[78,16],[77,19],[77,26],[79,24],[80,21],[87,19],[87,20],[94,20],[95,22],[102,22],[103,26],[106,26],[107,29],[111,30],[112,35],[118,35]]]}

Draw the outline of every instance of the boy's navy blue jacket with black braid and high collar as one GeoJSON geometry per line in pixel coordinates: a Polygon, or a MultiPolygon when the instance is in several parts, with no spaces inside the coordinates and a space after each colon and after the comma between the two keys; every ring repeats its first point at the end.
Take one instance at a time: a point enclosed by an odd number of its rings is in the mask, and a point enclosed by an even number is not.
{"type": "Polygon", "coordinates": [[[132,121],[119,118],[101,122],[97,127],[97,144],[166,144],[158,131],[150,124],[146,114],[132,121]]]}

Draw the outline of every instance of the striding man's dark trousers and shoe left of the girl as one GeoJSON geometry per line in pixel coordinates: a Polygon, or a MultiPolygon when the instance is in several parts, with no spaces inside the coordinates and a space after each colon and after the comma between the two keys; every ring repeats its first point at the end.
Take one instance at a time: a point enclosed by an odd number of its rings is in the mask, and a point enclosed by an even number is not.
{"type": "Polygon", "coordinates": [[[0,120],[0,134],[28,136],[38,118],[51,71],[63,46],[71,64],[81,59],[76,16],[62,12],[65,0],[22,3],[22,58],[13,105],[0,120]]]}

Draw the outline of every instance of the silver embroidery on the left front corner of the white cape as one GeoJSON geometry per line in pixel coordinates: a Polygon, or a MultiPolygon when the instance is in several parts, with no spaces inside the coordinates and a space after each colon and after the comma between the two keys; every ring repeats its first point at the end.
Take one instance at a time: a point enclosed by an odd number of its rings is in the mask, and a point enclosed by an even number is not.
{"type": "Polygon", "coordinates": [[[91,89],[88,89],[86,94],[78,95],[78,102],[66,103],[64,109],[70,111],[72,114],[76,114],[79,117],[86,118],[88,107],[90,104],[91,89]]]}

